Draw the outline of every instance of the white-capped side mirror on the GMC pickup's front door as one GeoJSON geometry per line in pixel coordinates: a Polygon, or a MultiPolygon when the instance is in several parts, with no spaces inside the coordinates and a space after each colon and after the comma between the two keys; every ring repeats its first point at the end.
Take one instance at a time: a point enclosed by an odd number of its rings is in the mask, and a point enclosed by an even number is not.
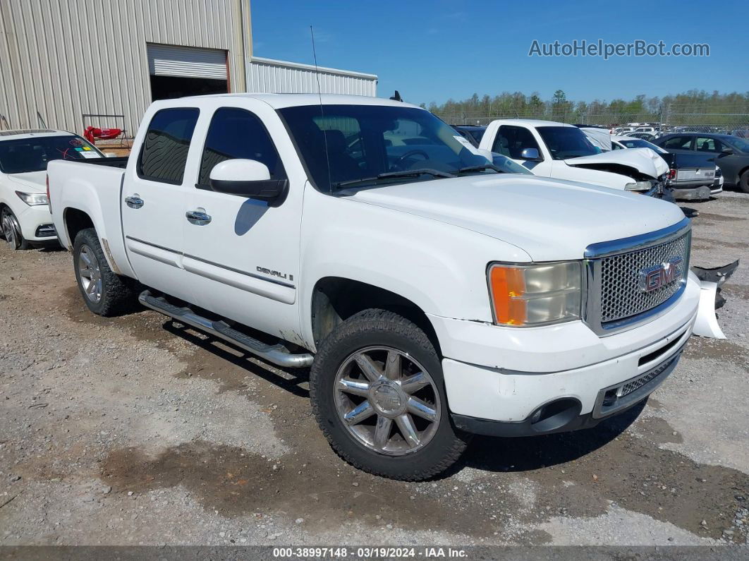
{"type": "Polygon", "coordinates": [[[213,166],[209,184],[215,192],[267,201],[272,207],[281,204],[288,192],[288,179],[271,179],[264,163],[239,158],[213,166]]]}

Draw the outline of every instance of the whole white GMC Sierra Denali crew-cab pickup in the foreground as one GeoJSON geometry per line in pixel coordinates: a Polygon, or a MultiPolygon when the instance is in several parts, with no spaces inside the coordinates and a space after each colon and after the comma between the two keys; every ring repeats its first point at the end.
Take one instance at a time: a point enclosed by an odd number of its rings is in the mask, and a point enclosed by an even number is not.
{"type": "MultiPolygon", "coordinates": [[[[676,366],[700,286],[679,207],[498,171],[370,97],[154,103],[125,169],[49,165],[92,312],[144,306],[310,367],[331,446],[425,479],[470,433],[591,427],[676,366]]],[[[111,160],[111,159],[110,159],[111,160]]]]}

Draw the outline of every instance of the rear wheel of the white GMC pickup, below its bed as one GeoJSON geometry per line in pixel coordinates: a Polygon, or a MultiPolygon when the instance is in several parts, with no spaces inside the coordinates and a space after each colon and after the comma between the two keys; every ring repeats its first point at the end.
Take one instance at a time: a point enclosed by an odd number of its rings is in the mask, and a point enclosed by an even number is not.
{"type": "Polygon", "coordinates": [[[76,235],[73,268],[83,301],[94,314],[109,318],[133,305],[128,279],[109,268],[94,228],[86,228],[76,235]]]}

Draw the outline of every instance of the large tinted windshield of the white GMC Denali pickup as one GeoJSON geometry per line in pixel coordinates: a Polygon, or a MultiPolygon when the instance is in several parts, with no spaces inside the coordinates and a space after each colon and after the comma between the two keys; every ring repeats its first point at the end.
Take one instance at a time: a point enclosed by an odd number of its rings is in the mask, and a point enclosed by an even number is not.
{"type": "Polygon", "coordinates": [[[324,192],[353,184],[426,181],[436,178],[434,172],[450,177],[463,168],[491,164],[457,131],[423,109],[326,105],[287,107],[279,113],[310,179],[324,192]],[[389,177],[377,177],[382,174],[389,177]]]}

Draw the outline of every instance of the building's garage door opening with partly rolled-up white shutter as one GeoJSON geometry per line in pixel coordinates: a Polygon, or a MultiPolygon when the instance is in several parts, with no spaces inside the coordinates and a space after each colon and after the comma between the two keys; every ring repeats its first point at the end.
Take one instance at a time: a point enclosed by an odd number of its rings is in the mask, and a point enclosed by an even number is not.
{"type": "Polygon", "coordinates": [[[151,99],[228,92],[226,51],[148,43],[151,99]]]}

